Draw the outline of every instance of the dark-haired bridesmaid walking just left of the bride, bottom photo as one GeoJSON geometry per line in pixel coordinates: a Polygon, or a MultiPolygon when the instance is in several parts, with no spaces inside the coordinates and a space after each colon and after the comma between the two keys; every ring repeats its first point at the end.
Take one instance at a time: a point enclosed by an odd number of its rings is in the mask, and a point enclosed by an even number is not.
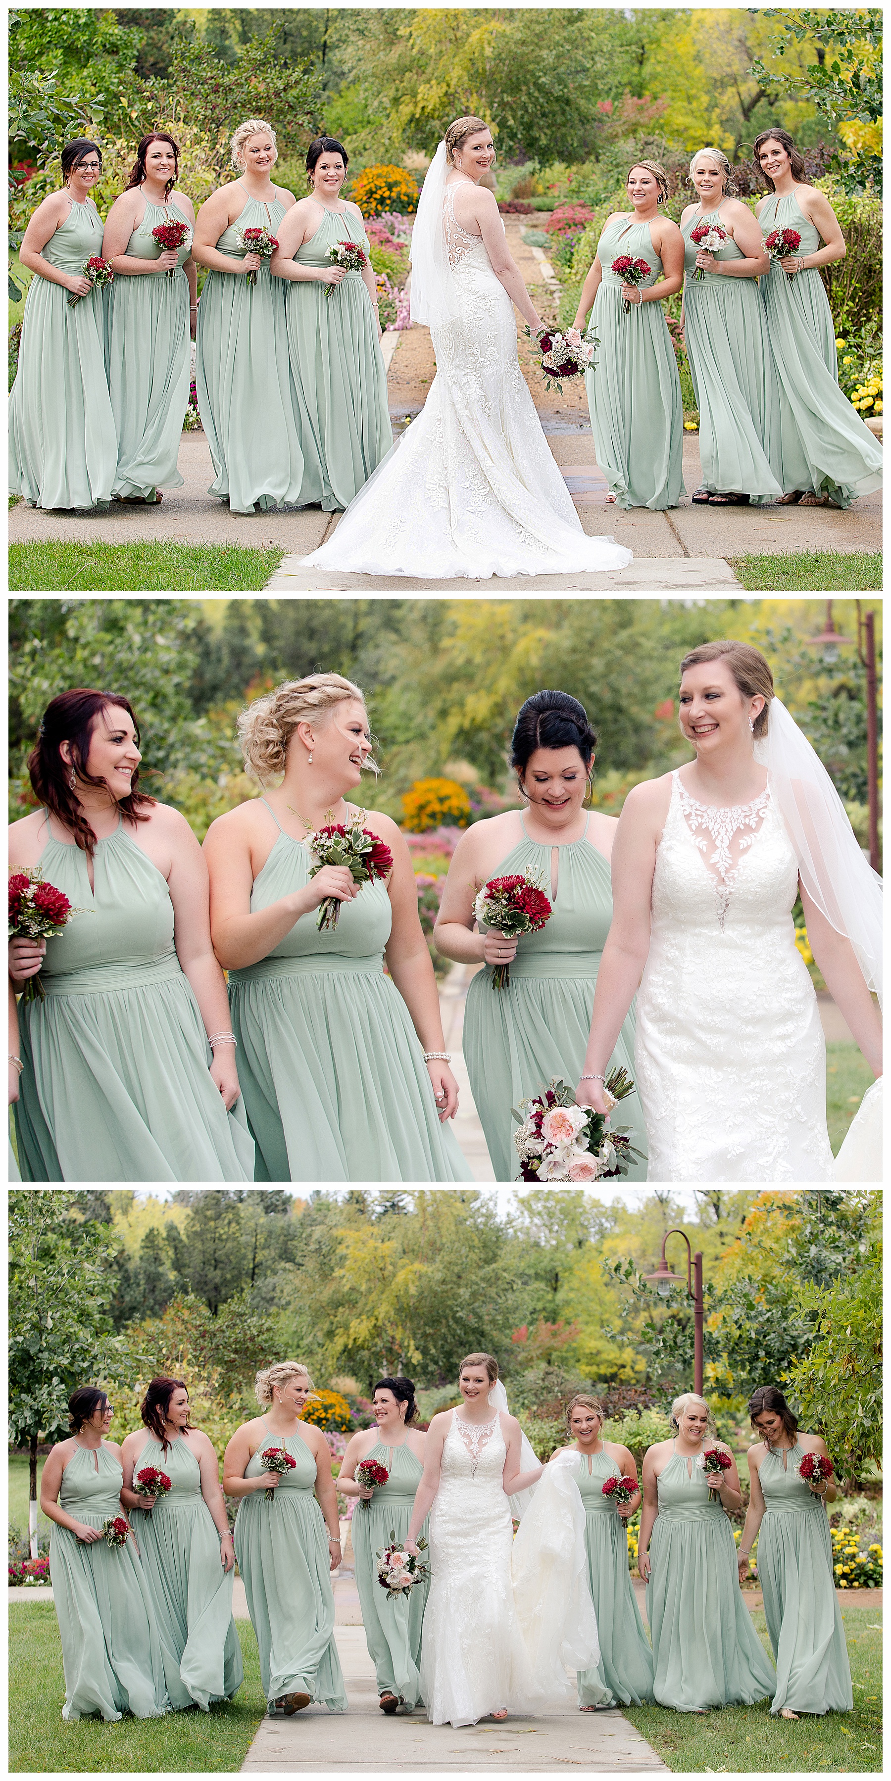
{"type": "MultiPolygon", "coordinates": [[[[353,1551],[356,1589],[369,1656],[378,1678],[380,1706],[410,1713],[421,1701],[421,1628],[428,1583],[415,1583],[408,1596],[387,1601],[378,1583],[376,1553],[390,1542],[390,1533],[405,1544],[415,1491],[424,1471],[426,1435],[408,1425],[417,1416],[415,1387],[410,1378],[380,1378],[372,1391],[376,1428],[353,1435],[337,1478],[344,1496],[358,1496],[353,1514],[353,1551]],[[390,1476],[374,1491],[356,1484],[362,1460],[376,1459],[390,1476]]],[[[426,1537],[428,1525],[422,1526],[426,1537]]]]}

